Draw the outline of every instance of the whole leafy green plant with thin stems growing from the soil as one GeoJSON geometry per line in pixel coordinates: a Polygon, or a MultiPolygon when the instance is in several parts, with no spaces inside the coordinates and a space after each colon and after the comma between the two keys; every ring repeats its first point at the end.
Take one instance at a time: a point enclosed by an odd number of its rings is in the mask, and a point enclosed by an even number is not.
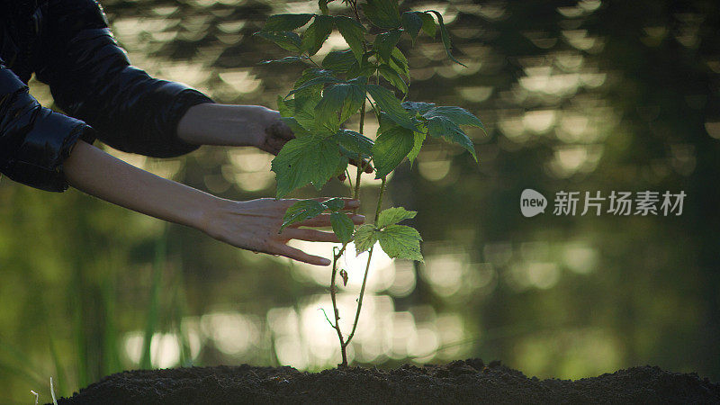
{"type": "MultiPolygon", "coordinates": [[[[463,65],[451,53],[450,36],[441,14],[434,10],[400,13],[398,2],[393,0],[367,0],[360,6],[357,0],[345,0],[343,3],[349,6],[352,17],[330,15],[328,4],[332,1],[318,2],[320,14],[272,15],[256,35],[293,53],[262,63],[299,62],[309,65],[293,85],[293,90],[277,99],[283,121],[293,130],[296,138],[287,142],[273,160],[276,198],[283,198],[307,184],[313,184],[320,191],[332,177],[348,173],[352,196],[357,199],[361,174],[371,163],[375,178],[382,180],[372,224],[356,228],[352,220],[341,212],[343,201],[331,198],[325,202],[296,202],[286,211],[280,229],[282,232],[293,223],[330,212],[332,229],[342,247],[333,248],[330,275],[334,320],[330,320],[327,313],[325,318],[338,332],[342,354],[339,365],[347,366],[347,346],[355,336],[376,244],[379,243],[389,257],[423,261],[420,252],[422,238],[418,230],[399,224],[402,220],[414,218],[417,212],[402,207],[381,210],[387,175],[405,157],[412,164],[428,135],[460,144],[477,161],[473,141],[460,125],[483,130],[484,127],[476,116],[463,108],[406,100],[410,66],[398,48],[402,38],[410,37],[414,43],[420,31],[435,38],[439,30],[447,57],[463,65]],[[365,15],[365,19],[360,17],[361,14],[365,15]],[[306,25],[301,34],[295,32],[306,25]],[[370,30],[368,27],[371,27],[370,30]],[[334,30],[339,31],[349,49],[329,52],[319,63],[313,56],[334,30]],[[396,94],[401,94],[401,98],[396,94]],[[379,125],[374,140],[363,132],[367,105],[379,125]],[[358,130],[344,128],[343,124],[357,113],[360,114],[358,130]],[[354,185],[347,169],[351,161],[357,165],[354,185]],[[339,324],[336,279],[338,259],[350,242],[355,244],[358,255],[365,251],[369,253],[353,328],[345,336],[339,324]]],[[[346,284],[347,271],[340,269],[339,273],[343,284],[346,284]]]]}

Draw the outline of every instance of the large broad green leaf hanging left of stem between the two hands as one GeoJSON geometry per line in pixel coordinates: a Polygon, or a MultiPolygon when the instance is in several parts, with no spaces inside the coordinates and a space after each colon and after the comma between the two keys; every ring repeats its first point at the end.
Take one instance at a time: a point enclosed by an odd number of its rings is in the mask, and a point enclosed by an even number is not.
{"type": "Polygon", "coordinates": [[[291,139],[280,149],[272,163],[272,170],[277,177],[277,198],[283,198],[309,183],[320,190],[335,173],[339,160],[340,150],[332,139],[291,139]]]}

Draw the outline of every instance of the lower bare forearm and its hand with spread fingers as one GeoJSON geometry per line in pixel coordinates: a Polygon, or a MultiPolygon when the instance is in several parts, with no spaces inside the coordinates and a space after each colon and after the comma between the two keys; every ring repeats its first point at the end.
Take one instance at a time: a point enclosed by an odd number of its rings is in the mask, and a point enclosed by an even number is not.
{"type": "MultiPolygon", "coordinates": [[[[309,255],[286,243],[290,239],[338,242],[332,232],[298,228],[328,227],[327,214],[300,222],[279,234],[284,212],[295,200],[221,199],[130,166],[84,141],[77,142],[64,168],[69,184],[80,191],[161,220],[200,229],[235,247],[328,266],[328,259],[309,255]]],[[[358,203],[346,200],[346,209],[356,208],[358,203]]],[[[351,219],[360,224],[364,217],[355,215],[351,219]]]]}

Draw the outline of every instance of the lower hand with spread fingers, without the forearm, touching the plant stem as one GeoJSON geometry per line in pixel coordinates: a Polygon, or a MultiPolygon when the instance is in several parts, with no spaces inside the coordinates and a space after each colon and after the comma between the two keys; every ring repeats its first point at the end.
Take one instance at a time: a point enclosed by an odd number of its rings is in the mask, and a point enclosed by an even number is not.
{"type": "MultiPolygon", "coordinates": [[[[319,199],[324,201],[327,199],[319,199]]],[[[356,209],[360,202],[344,199],[345,210],[356,209]]],[[[285,211],[298,200],[275,200],[260,198],[247,202],[224,200],[219,209],[211,211],[204,225],[204,231],[212,238],[254,252],[290,257],[294,260],[317,266],[328,266],[331,262],[324,257],[312,256],[295,247],[289,247],[290,239],[312,242],[339,243],[333,232],[300,227],[329,227],[330,215],[319,216],[293,224],[278,233],[285,211]]],[[[356,225],[365,221],[363,215],[348,214],[356,225]]]]}

